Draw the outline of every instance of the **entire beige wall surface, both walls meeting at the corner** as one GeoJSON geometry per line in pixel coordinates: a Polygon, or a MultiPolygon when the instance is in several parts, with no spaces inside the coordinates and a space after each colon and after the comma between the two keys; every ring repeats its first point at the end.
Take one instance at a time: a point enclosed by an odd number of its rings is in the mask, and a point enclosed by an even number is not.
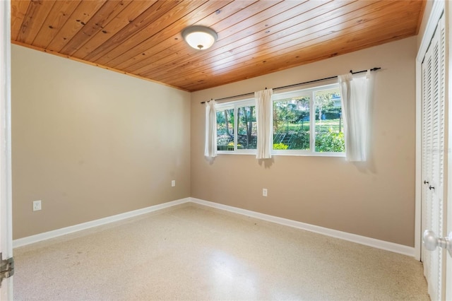
{"type": "Polygon", "coordinates": [[[13,238],[193,196],[413,246],[416,49],[410,37],[190,95],[13,45],[13,238]],[[199,102],[374,66],[366,165],[203,158],[199,102]]]}

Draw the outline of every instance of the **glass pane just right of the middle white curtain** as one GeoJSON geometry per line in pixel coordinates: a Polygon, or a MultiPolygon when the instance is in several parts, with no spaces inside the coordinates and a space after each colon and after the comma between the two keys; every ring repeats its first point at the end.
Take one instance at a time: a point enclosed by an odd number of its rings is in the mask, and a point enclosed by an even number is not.
{"type": "Polygon", "coordinates": [[[273,149],[309,150],[309,96],[273,102],[273,149]]]}

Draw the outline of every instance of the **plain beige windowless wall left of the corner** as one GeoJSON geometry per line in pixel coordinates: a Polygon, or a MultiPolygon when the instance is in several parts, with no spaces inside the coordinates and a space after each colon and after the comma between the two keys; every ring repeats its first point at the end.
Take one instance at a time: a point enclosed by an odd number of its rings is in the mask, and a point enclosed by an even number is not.
{"type": "Polygon", "coordinates": [[[16,45],[11,65],[14,239],[190,196],[190,93],[16,45]]]}

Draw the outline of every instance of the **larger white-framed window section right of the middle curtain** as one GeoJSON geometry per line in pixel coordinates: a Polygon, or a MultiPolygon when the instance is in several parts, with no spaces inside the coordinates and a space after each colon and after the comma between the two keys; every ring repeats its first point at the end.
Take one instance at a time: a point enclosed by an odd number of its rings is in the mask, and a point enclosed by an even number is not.
{"type": "Polygon", "coordinates": [[[345,152],[338,84],[273,95],[273,153],[345,152]]]}

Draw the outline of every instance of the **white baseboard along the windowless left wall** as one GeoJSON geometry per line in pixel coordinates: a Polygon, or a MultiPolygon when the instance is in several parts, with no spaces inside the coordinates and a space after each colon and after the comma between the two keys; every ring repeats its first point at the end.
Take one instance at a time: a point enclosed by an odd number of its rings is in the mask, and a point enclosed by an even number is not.
{"type": "Polygon", "coordinates": [[[62,235],[66,235],[69,233],[73,233],[73,232],[78,232],[81,230],[86,230],[89,228],[93,228],[93,227],[97,227],[100,225],[105,225],[108,223],[114,223],[117,222],[119,220],[125,220],[126,218],[133,218],[134,216],[141,216],[142,214],[145,213],[150,213],[153,211],[157,211],[163,208],[168,208],[171,206],[176,206],[179,205],[181,203],[187,203],[190,201],[190,198],[186,198],[186,199],[179,199],[176,201],[169,201],[167,203],[160,203],[158,205],[154,205],[154,206],[150,206],[150,207],[146,207],[146,208],[142,208],[142,209],[138,209],[138,210],[134,210],[134,211],[129,211],[129,212],[125,212],[125,213],[120,213],[117,214],[116,216],[109,216],[107,218],[100,218],[98,220],[91,220],[90,222],[86,222],[86,223],[81,223],[78,225],[72,225],[69,227],[65,227],[65,228],[61,228],[61,229],[57,229],[57,230],[52,230],[49,232],[44,232],[44,233],[40,233],[37,235],[32,235],[32,236],[28,236],[28,237],[23,237],[23,238],[19,238],[18,240],[13,240],[13,248],[16,247],[23,247],[27,244],[33,244],[35,242],[41,242],[43,240],[49,240],[51,238],[54,237],[59,237],[62,235]]]}

